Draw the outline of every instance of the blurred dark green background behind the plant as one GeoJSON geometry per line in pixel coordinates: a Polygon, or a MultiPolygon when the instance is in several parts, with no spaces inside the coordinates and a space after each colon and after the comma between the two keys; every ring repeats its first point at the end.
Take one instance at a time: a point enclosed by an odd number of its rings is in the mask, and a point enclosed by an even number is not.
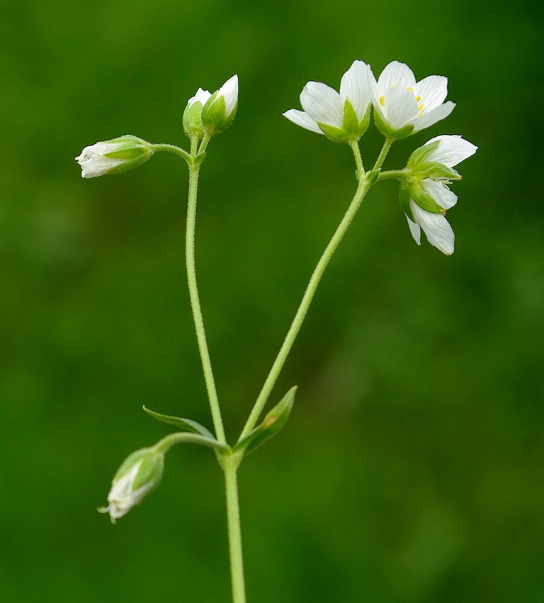
{"type": "MultiPolygon", "coordinates": [[[[309,79],[358,58],[446,74],[460,166],[446,258],[395,184],[370,192],[273,394],[283,432],[240,473],[249,602],[544,601],[542,8],[385,0],[0,2],[0,598],[227,602],[222,475],[174,448],[116,526],[96,507],[168,433],[210,426],[183,269],[174,155],[84,180],[73,157],[132,133],[186,145],[197,87],[239,74],[212,140],[197,263],[231,441],[355,189],[346,147],[297,128],[309,79]]],[[[368,133],[363,157],[380,137],[368,133]]]]}

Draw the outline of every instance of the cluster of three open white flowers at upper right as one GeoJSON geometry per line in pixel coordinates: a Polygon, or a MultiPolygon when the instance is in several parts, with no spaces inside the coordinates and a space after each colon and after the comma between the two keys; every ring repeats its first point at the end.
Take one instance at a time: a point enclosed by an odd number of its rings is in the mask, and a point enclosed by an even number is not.
{"type": "MultiPolygon", "coordinates": [[[[445,102],[447,95],[448,79],[442,75],[417,82],[408,65],[393,61],[376,79],[370,65],[356,60],[341,78],[339,92],[322,82],[307,82],[300,93],[304,111],[289,109],[283,115],[336,143],[353,145],[368,128],[373,107],[375,125],[391,143],[446,118],[455,108],[452,101],[445,102]]],[[[416,243],[422,229],[431,245],[453,253],[453,230],[444,214],[457,197],[448,184],[460,179],[453,166],[476,150],[460,136],[438,136],[416,150],[397,176],[400,203],[416,243]]]]}

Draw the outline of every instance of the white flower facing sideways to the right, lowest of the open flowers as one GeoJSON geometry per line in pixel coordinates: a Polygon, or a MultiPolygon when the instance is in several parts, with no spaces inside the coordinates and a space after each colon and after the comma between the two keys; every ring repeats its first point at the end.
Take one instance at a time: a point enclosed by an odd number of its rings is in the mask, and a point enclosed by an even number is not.
{"type": "MultiPolygon", "coordinates": [[[[444,214],[457,203],[457,195],[448,188],[447,184],[450,180],[446,175],[449,171],[450,174],[453,173],[455,179],[460,179],[457,172],[451,168],[474,155],[476,150],[477,146],[458,135],[443,135],[431,138],[412,155],[414,157],[419,153],[422,157],[412,162],[412,170],[430,172],[433,176],[416,179],[410,182],[405,190],[409,203],[406,218],[410,233],[418,245],[421,244],[421,229],[423,229],[431,245],[446,255],[453,253],[455,234],[444,214]],[[431,147],[431,150],[427,151],[425,147],[431,147]],[[436,164],[441,164],[449,170],[443,170],[441,175],[441,165],[436,164]]],[[[410,161],[408,165],[410,167],[410,161]]],[[[402,200],[401,204],[403,204],[402,200]]]]}

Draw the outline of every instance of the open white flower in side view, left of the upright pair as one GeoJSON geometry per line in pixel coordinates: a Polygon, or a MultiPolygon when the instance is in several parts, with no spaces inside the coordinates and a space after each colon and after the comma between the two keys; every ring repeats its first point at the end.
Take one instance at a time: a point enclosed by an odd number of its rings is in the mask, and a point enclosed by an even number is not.
{"type": "Polygon", "coordinates": [[[304,111],[289,109],[283,114],[297,126],[325,134],[336,142],[360,138],[370,121],[370,65],[353,61],[340,81],[340,92],[322,82],[308,82],[300,93],[304,111]]]}

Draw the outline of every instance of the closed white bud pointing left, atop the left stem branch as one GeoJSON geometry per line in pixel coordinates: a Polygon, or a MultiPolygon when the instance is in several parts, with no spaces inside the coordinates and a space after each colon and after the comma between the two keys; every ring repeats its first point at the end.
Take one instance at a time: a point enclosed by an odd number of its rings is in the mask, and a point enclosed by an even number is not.
{"type": "Polygon", "coordinates": [[[96,178],[132,170],[145,163],[153,153],[149,143],[128,134],[85,147],[76,161],[81,165],[81,177],[96,178]]]}

